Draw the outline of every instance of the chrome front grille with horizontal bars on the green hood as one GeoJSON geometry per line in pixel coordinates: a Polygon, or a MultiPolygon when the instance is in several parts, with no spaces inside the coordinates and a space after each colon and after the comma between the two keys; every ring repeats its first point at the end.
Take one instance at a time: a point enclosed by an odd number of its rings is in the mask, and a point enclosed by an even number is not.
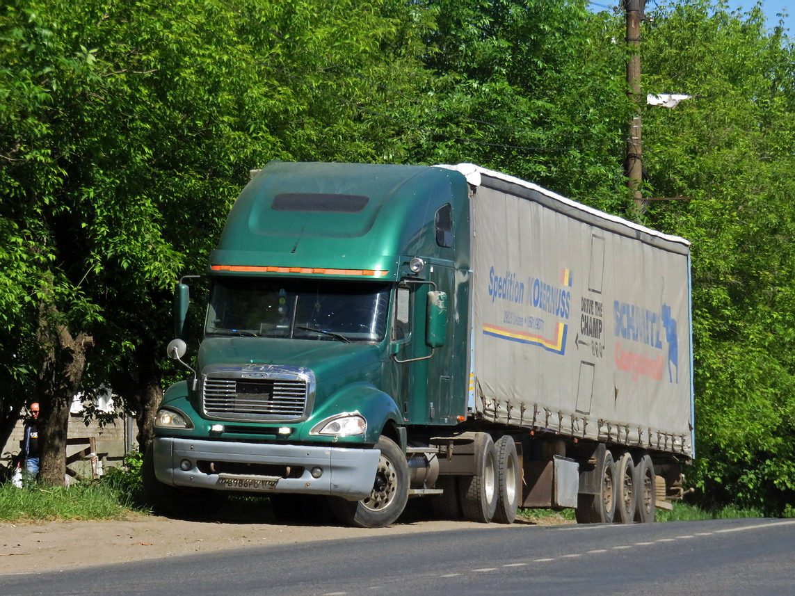
{"type": "Polygon", "coordinates": [[[302,420],[314,393],[312,375],[303,370],[214,370],[203,381],[204,413],[215,420],[302,420]]]}

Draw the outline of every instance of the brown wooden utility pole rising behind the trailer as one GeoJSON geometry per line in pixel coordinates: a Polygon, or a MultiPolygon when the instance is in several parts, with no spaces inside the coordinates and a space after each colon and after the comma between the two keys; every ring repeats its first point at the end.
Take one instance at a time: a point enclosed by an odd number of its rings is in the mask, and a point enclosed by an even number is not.
{"type": "Polygon", "coordinates": [[[641,20],[645,0],[624,0],[626,10],[626,45],[628,60],[626,62],[626,86],[630,99],[635,103],[635,114],[630,121],[630,134],[626,147],[626,178],[627,185],[635,201],[638,215],[644,211],[641,195],[643,171],[641,143],[641,20]]]}

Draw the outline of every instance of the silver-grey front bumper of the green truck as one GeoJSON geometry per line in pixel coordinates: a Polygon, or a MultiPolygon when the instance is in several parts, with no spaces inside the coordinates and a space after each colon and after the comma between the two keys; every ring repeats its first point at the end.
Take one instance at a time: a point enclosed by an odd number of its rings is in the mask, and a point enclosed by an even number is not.
{"type": "Polygon", "coordinates": [[[381,451],[156,437],[153,455],[157,480],[169,486],[328,494],[356,501],[372,492],[381,451]],[[293,471],[281,475],[215,473],[216,468],[223,470],[224,464],[273,466],[293,471]],[[316,478],[318,469],[321,473],[316,478]],[[296,470],[301,475],[293,478],[296,470]]]}

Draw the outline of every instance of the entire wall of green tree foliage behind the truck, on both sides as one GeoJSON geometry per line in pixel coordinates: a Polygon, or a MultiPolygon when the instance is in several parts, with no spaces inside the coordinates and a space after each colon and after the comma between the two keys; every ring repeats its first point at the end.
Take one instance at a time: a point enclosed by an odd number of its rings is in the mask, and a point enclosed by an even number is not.
{"type": "MultiPolygon", "coordinates": [[[[101,383],[138,413],[169,296],[250,168],[471,161],[635,217],[620,14],[582,0],[9,0],[0,7],[0,443],[101,383]],[[93,346],[91,340],[93,339],[93,346]],[[71,392],[71,393],[70,393],[71,392]]],[[[795,80],[783,29],[647,6],[644,222],[692,241],[705,502],[795,503],[795,80]]],[[[59,410],[60,408],[60,410],[59,410]]],[[[59,431],[59,432],[60,432],[59,431]]],[[[55,455],[52,455],[55,461],[55,455]]],[[[52,478],[59,470],[52,467],[52,478]]]]}

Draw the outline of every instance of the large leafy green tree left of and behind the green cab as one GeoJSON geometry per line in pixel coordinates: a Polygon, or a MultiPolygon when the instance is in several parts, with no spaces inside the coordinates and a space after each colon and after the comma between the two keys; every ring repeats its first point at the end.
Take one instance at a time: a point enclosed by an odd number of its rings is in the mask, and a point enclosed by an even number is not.
{"type": "Polygon", "coordinates": [[[400,2],[362,9],[223,0],[2,8],[0,259],[10,266],[0,284],[14,308],[0,323],[25,346],[3,350],[26,358],[20,386],[42,404],[47,482],[64,477],[68,406],[83,373],[89,387],[110,381],[137,412],[140,441],[150,439],[170,288],[203,269],[249,168],[273,158],[400,159],[415,109],[401,98],[423,76],[413,58],[419,25],[400,2]]]}

